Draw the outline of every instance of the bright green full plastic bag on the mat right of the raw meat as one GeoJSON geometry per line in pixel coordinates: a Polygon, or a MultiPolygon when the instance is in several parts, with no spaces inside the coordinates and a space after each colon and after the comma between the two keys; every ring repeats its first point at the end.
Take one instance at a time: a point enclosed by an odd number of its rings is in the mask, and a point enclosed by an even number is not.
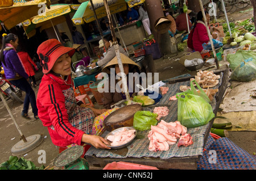
{"type": "Polygon", "coordinates": [[[212,106],[200,95],[181,92],[176,94],[176,97],[178,99],[177,120],[187,128],[205,125],[215,116],[212,106]]]}

